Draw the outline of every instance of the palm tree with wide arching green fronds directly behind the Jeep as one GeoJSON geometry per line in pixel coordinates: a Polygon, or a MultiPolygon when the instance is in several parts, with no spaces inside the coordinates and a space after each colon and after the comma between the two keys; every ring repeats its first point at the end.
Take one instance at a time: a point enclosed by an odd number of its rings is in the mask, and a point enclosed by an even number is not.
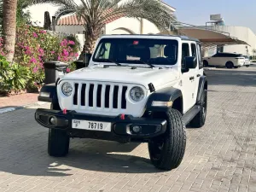
{"type": "Polygon", "coordinates": [[[60,6],[56,21],[63,15],[76,14],[84,20],[85,42],[83,52],[91,53],[106,21],[119,16],[146,19],[160,30],[166,30],[177,21],[160,0],[28,0],[31,4],[53,3],[60,6]]]}

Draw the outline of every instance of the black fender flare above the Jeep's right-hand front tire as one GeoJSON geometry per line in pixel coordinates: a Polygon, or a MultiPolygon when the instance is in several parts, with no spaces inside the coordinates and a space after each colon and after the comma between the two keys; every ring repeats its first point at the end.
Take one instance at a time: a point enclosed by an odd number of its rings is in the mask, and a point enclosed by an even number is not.
{"type": "MultiPolygon", "coordinates": [[[[172,108],[172,107],[166,107],[166,106],[154,107],[152,106],[152,102],[153,101],[174,102],[175,100],[177,100],[177,98],[183,98],[183,94],[181,90],[178,90],[173,87],[157,90],[148,97],[148,102],[146,104],[146,111],[165,111],[166,112],[169,108],[172,108]]],[[[181,104],[183,105],[183,103],[181,104]]],[[[181,108],[183,110],[183,106],[181,106],[181,108]]]]}

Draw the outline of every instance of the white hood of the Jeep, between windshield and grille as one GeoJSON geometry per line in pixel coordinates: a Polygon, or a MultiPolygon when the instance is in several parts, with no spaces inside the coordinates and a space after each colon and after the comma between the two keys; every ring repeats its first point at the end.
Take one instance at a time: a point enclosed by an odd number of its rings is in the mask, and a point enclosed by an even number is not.
{"type": "Polygon", "coordinates": [[[177,69],[137,67],[85,67],[72,73],[67,73],[66,80],[104,81],[127,84],[142,84],[148,89],[148,84],[154,87],[168,84],[178,79],[177,69]]]}

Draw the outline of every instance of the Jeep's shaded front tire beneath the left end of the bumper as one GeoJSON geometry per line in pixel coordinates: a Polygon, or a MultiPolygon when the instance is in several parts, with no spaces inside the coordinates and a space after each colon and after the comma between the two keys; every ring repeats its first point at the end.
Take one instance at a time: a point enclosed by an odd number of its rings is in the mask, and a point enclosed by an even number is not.
{"type": "MultiPolygon", "coordinates": [[[[58,104],[52,103],[51,109],[60,110],[58,104]]],[[[70,138],[66,131],[49,129],[48,133],[48,154],[54,157],[62,157],[68,154],[70,138]]]]}

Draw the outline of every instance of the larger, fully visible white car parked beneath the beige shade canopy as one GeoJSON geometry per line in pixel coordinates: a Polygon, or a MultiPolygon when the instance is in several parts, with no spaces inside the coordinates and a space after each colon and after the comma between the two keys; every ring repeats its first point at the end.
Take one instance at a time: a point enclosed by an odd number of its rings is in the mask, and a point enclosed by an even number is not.
{"type": "Polygon", "coordinates": [[[241,54],[217,53],[211,57],[203,58],[204,67],[218,66],[227,68],[238,68],[244,65],[245,57],[241,54]]]}

